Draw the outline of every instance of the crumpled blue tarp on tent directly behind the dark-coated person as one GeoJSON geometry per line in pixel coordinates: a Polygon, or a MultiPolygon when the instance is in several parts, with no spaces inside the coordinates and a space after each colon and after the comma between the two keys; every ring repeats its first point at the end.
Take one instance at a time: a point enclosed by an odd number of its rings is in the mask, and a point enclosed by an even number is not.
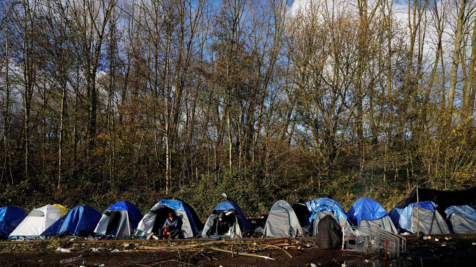
{"type": "Polygon", "coordinates": [[[309,216],[309,229],[313,234],[317,234],[317,223],[327,214],[330,214],[340,226],[349,226],[346,211],[335,200],[329,198],[318,198],[308,201],[306,206],[311,214],[309,216]]]}

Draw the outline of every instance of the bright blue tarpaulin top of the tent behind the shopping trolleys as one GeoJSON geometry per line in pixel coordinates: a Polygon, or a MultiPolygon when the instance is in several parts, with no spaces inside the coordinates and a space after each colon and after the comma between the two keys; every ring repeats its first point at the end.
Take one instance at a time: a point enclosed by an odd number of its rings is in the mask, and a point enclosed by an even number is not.
{"type": "Polygon", "coordinates": [[[368,198],[357,200],[347,212],[348,220],[354,226],[360,226],[360,221],[363,219],[375,220],[386,215],[388,215],[387,211],[377,201],[368,198]]]}

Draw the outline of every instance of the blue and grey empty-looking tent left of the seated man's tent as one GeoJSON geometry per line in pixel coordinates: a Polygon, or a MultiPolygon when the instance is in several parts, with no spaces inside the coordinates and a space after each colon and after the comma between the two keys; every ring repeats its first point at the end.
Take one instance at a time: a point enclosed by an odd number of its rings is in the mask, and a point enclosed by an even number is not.
{"type": "Polygon", "coordinates": [[[130,238],[137,228],[142,213],[129,201],[119,201],[102,213],[94,229],[96,236],[112,235],[114,239],[130,238]]]}

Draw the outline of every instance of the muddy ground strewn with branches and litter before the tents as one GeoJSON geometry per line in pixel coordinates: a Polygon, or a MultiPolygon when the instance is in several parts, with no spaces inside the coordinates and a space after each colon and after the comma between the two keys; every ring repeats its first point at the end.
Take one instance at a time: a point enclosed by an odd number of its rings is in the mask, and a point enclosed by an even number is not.
{"type": "MultiPolygon", "coordinates": [[[[149,247],[166,247],[170,245],[182,245],[169,242],[127,242],[124,243],[67,243],[60,245],[72,248],[70,253],[56,252],[58,243],[43,242],[39,244],[0,244],[0,266],[311,266],[315,264],[321,267],[340,267],[346,264],[352,266],[372,267],[411,267],[411,266],[476,266],[476,236],[458,236],[449,240],[444,237],[434,237],[429,240],[422,238],[408,238],[407,253],[402,253],[397,259],[387,261],[377,259],[369,255],[358,254],[351,251],[324,250],[311,245],[311,240],[298,243],[300,249],[289,248],[286,251],[289,257],[281,249],[253,250],[263,248],[267,241],[256,241],[235,244],[234,250],[255,253],[261,256],[271,257],[274,260],[262,257],[250,257],[234,255],[215,251],[208,248],[196,248],[190,250],[143,250],[137,249],[138,245],[149,247]],[[255,243],[255,245],[253,244],[255,243]],[[257,245],[256,245],[257,244],[257,245]],[[442,246],[445,245],[445,246],[442,246]],[[91,248],[104,248],[99,252],[90,251],[91,248]],[[114,249],[120,252],[111,252],[114,249]],[[21,252],[21,253],[19,253],[21,252]],[[367,260],[368,262],[366,262],[367,260]]],[[[266,239],[264,239],[266,240],[266,239]]],[[[269,240],[269,239],[268,239],[269,240]]],[[[296,244],[295,244],[296,245],[296,244]]],[[[214,245],[222,249],[230,249],[228,244],[214,245]]],[[[139,247],[140,248],[140,247],[139,247]]]]}

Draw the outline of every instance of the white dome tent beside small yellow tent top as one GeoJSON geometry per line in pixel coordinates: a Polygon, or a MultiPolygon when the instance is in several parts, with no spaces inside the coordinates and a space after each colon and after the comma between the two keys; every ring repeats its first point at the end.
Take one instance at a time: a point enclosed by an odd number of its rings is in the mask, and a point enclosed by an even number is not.
{"type": "Polygon", "coordinates": [[[61,209],[55,205],[46,205],[39,209],[31,210],[30,214],[21,221],[20,225],[11,232],[8,238],[43,239],[44,237],[41,234],[60,218],[61,209]]]}

